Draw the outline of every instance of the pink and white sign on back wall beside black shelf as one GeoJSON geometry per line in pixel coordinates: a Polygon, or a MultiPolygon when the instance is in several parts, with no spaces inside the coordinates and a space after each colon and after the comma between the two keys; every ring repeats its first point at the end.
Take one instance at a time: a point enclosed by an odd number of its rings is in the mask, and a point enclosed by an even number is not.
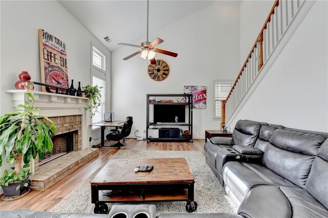
{"type": "Polygon", "coordinates": [[[193,95],[193,108],[206,108],[207,86],[185,85],[183,92],[193,95]]]}

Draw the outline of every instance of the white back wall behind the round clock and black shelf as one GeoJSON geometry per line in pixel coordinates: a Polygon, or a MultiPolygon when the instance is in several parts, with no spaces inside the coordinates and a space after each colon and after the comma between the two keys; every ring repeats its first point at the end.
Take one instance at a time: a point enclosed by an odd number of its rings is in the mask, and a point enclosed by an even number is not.
{"type": "MultiPolygon", "coordinates": [[[[183,10],[183,8],[181,8],[183,10]]],[[[168,11],[168,16],[170,12],[168,11]]],[[[150,40],[165,40],[158,48],[178,53],[177,58],[157,54],[170,66],[169,77],[153,81],[147,63],[139,56],[122,58],[137,48],[122,47],[112,53],[112,111],[116,120],[132,116],[132,134],[146,129],[146,94],[183,93],[183,85],[206,85],[207,108],[195,109],[194,138],[204,138],[204,130],[218,129],[214,117],[214,79],[234,80],[239,70],[239,3],[214,2],[158,32],[150,30],[150,40]]],[[[129,42],[127,42],[129,43],[129,42]]]]}

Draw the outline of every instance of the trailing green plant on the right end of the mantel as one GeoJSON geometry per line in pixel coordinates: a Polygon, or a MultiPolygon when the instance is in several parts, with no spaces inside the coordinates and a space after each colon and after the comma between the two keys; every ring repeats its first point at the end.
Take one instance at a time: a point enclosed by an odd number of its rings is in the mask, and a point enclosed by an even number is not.
{"type": "Polygon", "coordinates": [[[98,87],[98,85],[96,86],[87,85],[83,89],[84,92],[86,93],[86,97],[89,98],[89,102],[85,110],[90,111],[91,115],[94,116],[96,113],[99,113],[98,107],[100,106],[100,100],[101,100],[100,89],[103,89],[103,87],[98,87]]]}

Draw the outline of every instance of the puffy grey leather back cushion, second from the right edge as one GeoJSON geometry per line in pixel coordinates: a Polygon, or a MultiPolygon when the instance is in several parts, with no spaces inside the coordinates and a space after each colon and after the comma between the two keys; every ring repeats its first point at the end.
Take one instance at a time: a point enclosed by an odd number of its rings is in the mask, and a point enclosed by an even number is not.
{"type": "Polygon", "coordinates": [[[274,130],[263,155],[263,164],[304,188],[323,136],[290,130],[274,130]]]}

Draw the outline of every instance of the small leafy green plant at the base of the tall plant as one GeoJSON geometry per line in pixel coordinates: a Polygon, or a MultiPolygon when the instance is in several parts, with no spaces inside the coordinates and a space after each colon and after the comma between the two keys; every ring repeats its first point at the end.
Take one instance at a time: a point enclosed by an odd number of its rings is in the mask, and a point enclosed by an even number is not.
{"type": "MultiPolygon", "coordinates": [[[[11,167],[11,169],[15,169],[15,167],[11,167]]],[[[29,185],[28,177],[31,174],[30,164],[25,164],[22,171],[19,171],[17,175],[15,174],[15,171],[9,173],[7,169],[5,169],[3,177],[0,178],[0,184],[2,186],[8,186],[14,182],[20,182],[21,184],[16,187],[16,190],[18,190],[21,185],[24,185],[25,187],[29,185]]]]}

